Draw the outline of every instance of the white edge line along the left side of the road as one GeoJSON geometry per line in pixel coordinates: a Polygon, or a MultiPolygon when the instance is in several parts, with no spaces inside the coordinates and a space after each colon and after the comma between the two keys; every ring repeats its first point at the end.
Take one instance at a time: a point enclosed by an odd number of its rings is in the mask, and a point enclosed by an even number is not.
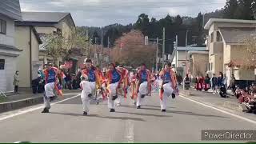
{"type": "MultiPolygon", "coordinates": [[[[69,94],[65,94],[65,95],[69,95],[69,94]]],[[[70,99],[72,99],[72,98],[77,98],[78,96],[80,96],[80,94],[75,95],[75,96],[70,97],[70,98],[63,99],[63,100],[58,101],[58,102],[53,102],[53,103],[51,103],[50,105],[51,105],[51,106],[54,106],[54,105],[56,105],[56,104],[58,104],[58,103],[66,102],[66,101],[68,101],[68,100],[70,100],[70,99]]],[[[22,111],[19,111],[18,113],[10,114],[10,115],[7,115],[7,116],[5,116],[5,117],[2,117],[2,118],[0,118],[0,121],[6,120],[6,119],[8,119],[8,118],[13,118],[13,117],[18,116],[18,115],[21,115],[21,114],[26,114],[26,113],[29,113],[29,112],[34,111],[34,110],[39,110],[39,109],[42,109],[43,107],[44,107],[44,106],[42,105],[42,106],[38,106],[38,107],[31,108],[31,109],[28,109],[28,110],[22,110],[22,111]]]]}

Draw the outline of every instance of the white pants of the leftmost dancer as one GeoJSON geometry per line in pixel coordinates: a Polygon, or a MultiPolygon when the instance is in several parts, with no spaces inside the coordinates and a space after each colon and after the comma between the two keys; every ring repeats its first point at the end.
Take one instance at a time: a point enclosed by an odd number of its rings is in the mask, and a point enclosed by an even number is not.
{"type": "Polygon", "coordinates": [[[45,95],[43,98],[43,102],[45,108],[50,109],[50,97],[54,97],[54,86],[55,82],[50,82],[45,85],[45,95]]]}

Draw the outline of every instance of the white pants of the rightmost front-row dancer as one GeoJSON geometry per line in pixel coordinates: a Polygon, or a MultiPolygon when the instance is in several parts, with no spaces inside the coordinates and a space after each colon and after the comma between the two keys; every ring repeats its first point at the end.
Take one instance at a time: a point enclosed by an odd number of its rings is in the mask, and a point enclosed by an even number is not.
{"type": "Polygon", "coordinates": [[[166,110],[167,100],[170,97],[170,95],[174,93],[174,89],[171,86],[172,86],[171,82],[166,83],[162,86],[163,87],[163,96],[162,96],[162,100],[160,99],[161,110],[166,110]]]}

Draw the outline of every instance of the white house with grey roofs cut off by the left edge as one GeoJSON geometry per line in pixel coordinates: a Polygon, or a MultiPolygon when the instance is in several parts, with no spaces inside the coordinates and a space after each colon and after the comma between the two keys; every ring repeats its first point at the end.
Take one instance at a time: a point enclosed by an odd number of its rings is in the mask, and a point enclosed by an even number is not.
{"type": "Polygon", "coordinates": [[[22,20],[19,1],[0,1],[0,93],[14,90],[16,62],[22,52],[14,45],[15,20],[22,20]]]}

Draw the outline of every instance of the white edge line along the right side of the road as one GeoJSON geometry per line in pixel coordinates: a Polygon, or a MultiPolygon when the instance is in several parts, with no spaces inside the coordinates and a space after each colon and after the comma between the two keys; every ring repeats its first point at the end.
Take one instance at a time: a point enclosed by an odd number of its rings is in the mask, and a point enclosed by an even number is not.
{"type": "Polygon", "coordinates": [[[227,111],[225,111],[225,110],[218,109],[217,107],[206,105],[206,104],[204,104],[204,103],[202,103],[202,102],[195,101],[194,99],[191,99],[191,98],[186,98],[186,97],[184,97],[184,96],[182,96],[182,95],[179,95],[179,97],[185,98],[185,99],[187,99],[187,100],[189,100],[189,101],[191,101],[191,102],[196,102],[196,103],[198,103],[199,105],[206,106],[206,107],[209,107],[209,108],[214,109],[214,110],[218,110],[219,112],[222,112],[222,113],[224,113],[224,114],[229,114],[229,115],[231,115],[231,116],[233,116],[233,117],[235,117],[235,118],[240,118],[240,119],[242,119],[242,120],[244,120],[244,121],[251,122],[251,123],[253,123],[253,124],[256,125],[256,121],[251,120],[251,119],[249,119],[249,118],[244,118],[244,117],[242,117],[242,116],[240,116],[240,115],[238,115],[238,114],[233,114],[233,113],[227,112],[227,111]]]}

